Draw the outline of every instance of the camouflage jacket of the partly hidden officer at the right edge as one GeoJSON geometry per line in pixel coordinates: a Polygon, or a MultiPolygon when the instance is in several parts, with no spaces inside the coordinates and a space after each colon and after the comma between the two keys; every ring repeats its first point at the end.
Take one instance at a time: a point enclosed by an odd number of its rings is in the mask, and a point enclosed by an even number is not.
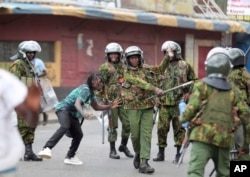
{"type": "Polygon", "coordinates": [[[250,74],[245,68],[233,69],[228,77],[232,84],[242,92],[242,96],[250,106],[250,74]]]}

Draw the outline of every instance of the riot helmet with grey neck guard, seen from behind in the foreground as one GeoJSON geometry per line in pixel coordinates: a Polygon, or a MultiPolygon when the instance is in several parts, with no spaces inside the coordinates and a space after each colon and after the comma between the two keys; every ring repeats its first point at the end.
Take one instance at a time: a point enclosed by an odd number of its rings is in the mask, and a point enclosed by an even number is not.
{"type": "Polygon", "coordinates": [[[231,89],[227,77],[232,69],[232,64],[225,48],[215,47],[211,49],[204,64],[206,77],[203,78],[203,81],[205,83],[221,90],[231,89]]]}

